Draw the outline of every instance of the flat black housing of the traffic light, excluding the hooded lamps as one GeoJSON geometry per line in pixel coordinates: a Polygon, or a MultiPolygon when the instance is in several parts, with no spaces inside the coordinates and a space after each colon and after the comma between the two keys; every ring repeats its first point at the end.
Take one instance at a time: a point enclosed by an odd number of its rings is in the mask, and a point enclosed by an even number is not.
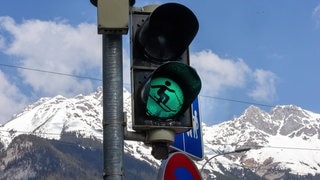
{"type": "MultiPolygon", "coordinates": [[[[146,56],[141,53],[141,47],[136,42],[136,32],[143,23],[149,18],[151,12],[133,11],[131,13],[131,31],[130,31],[130,48],[131,48],[131,89],[132,89],[132,122],[133,129],[137,131],[149,130],[154,128],[168,128],[174,129],[176,133],[185,132],[192,128],[192,112],[191,104],[185,112],[180,113],[173,119],[179,124],[173,126],[166,125],[166,121],[163,124],[157,125],[148,124],[146,121],[156,121],[155,118],[150,118],[146,115],[145,102],[143,102],[142,91],[144,85],[147,83],[152,73],[163,63],[156,61],[146,60],[146,56]],[[136,46],[136,47],[134,47],[136,46]]],[[[179,57],[179,61],[189,65],[189,49],[186,48],[183,54],[179,57]]],[[[171,119],[172,121],[172,119],[171,119]]]]}

